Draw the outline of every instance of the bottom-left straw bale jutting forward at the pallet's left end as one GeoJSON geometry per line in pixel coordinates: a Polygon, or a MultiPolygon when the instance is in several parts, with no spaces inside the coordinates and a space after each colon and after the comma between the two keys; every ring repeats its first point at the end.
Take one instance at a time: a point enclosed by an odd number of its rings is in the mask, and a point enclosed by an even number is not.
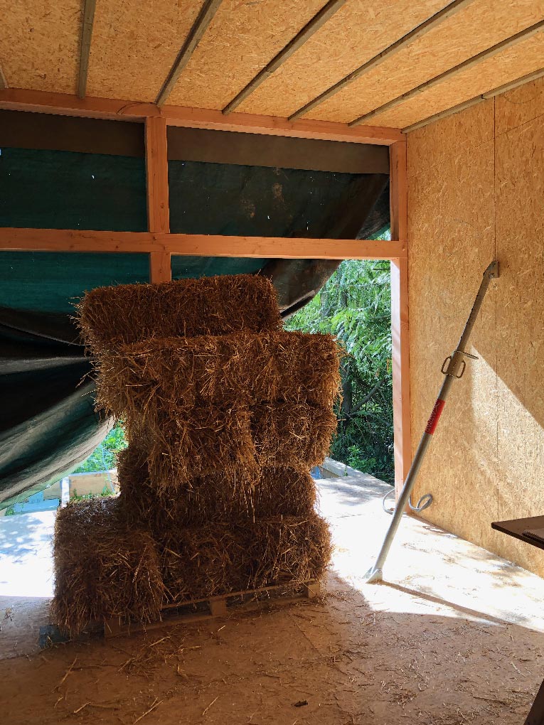
{"type": "Polygon", "coordinates": [[[96,498],[59,510],[54,534],[51,617],[78,634],[113,616],[160,619],[164,587],[157,547],[144,529],[123,526],[118,500],[96,498]]]}

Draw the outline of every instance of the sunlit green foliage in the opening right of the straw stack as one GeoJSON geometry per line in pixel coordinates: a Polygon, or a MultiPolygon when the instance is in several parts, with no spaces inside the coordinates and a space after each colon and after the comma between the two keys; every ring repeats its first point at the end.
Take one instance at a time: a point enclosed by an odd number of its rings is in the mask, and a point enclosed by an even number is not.
{"type": "Polygon", "coordinates": [[[331,456],[382,481],[394,481],[390,264],[346,261],[319,294],[285,323],[329,333],[347,355],[331,456]]]}

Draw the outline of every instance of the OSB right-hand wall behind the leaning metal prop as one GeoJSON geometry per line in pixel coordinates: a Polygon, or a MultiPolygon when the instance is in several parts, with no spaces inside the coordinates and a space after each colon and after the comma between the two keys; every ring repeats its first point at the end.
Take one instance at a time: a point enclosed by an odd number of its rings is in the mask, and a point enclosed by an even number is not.
{"type": "MultiPolygon", "coordinates": [[[[516,99],[533,107],[543,86],[516,99]]],[[[544,576],[541,552],[490,528],[544,513],[544,116],[495,134],[512,123],[504,101],[408,135],[414,448],[482,271],[500,262],[471,338],[479,360],[453,385],[413,498],[432,493],[428,521],[544,576]]]]}

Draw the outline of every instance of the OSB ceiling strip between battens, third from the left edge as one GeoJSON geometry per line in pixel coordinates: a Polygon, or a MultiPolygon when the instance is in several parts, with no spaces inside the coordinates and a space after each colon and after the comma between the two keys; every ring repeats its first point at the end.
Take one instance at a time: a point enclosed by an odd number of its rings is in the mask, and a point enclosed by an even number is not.
{"type": "Polygon", "coordinates": [[[223,109],[325,4],[223,0],[167,104],[223,109]]]}

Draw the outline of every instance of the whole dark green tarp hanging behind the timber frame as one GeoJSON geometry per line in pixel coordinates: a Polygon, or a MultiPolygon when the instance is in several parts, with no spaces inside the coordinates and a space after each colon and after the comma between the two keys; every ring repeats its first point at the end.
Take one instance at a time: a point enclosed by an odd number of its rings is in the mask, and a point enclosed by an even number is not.
{"type": "MultiPolygon", "coordinates": [[[[356,239],[387,225],[387,176],[169,163],[173,232],[356,239]]],[[[0,225],[144,231],[144,161],[1,149],[0,225]],[[93,178],[94,177],[94,178],[93,178]]],[[[354,242],[355,244],[355,242],[354,242]]],[[[226,249],[228,252],[228,249],[226,249]]],[[[173,257],[174,278],[260,272],[286,314],[330,260],[173,257]]],[[[147,254],[0,252],[0,505],[73,470],[107,434],[71,315],[96,286],[149,280],[147,254]]]]}

